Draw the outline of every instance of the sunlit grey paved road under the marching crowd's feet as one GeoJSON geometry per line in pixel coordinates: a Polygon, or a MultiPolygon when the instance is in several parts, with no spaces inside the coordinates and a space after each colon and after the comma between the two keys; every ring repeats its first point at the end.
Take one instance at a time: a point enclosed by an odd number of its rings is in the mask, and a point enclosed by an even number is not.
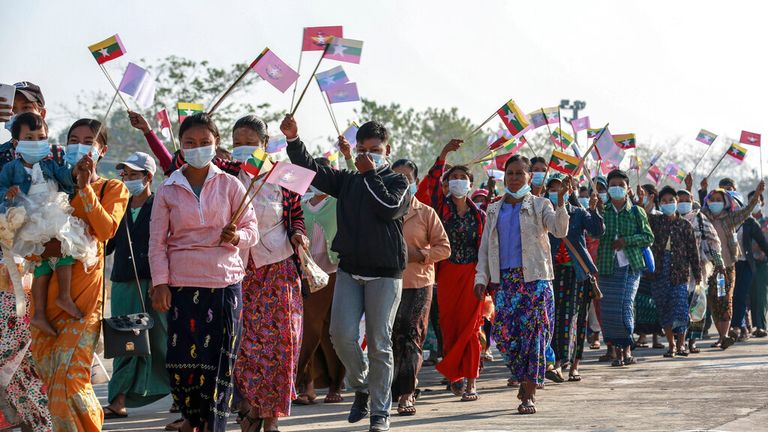
{"type": "MultiPolygon", "coordinates": [[[[539,413],[517,414],[516,391],[506,387],[507,369],[488,364],[479,381],[480,400],[460,402],[440,385],[434,368],[421,374],[415,417],[392,417],[402,431],[768,431],[768,339],[752,339],[727,351],[704,348],[687,359],[664,359],[663,350],[643,349],[633,367],[597,363],[588,352],[581,383],[547,383],[538,394],[539,413]]],[[[105,401],[106,386],[97,386],[105,401]]],[[[342,404],[294,407],[280,430],[367,431],[367,422],[346,422],[351,395],[342,404]]],[[[109,421],[104,430],[155,431],[175,418],[170,398],[109,421]]],[[[239,427],[232,417],[230,430],[239,427]]]]}

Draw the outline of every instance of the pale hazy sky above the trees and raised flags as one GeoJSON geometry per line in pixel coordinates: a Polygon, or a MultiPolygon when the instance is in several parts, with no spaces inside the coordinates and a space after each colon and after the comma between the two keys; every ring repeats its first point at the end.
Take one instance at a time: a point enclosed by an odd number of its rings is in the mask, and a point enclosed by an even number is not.
{"type": "MultiPolygon", "coordinates": [[[[768,87],[761,79],[768,6],[757,1],[24,0],[3,6],[0,82],[39,84],[59,128],[74,120],[61,117],[61,104],[74,106],[84,90],[109,90],[86,47],[114,33],[128,51],[108,64],[119,80],[129,60],[176,54],[228,66],[250,62],[265,46],[295,67],[303,27],[343,25],[345,36],[365,42],[361,64],[344,68],[361,95],[379,102],[457,106],[481,122],[509,98],[526,112],[581,99],[594,126],[610,121],[614,133],[635,132],[641,143],[681,136],[701,151],[694,138],[702,127],[732,137],[741,129],[768,133],[768,87]]],[[[318,56],[305,55],[303,79],[318,56]]],[[[337,64],[324,62],[320,70],[337,64]]],[[[247,95],[285,109],[290,97],[263,82],[247,95]]],[[[336,105],[337,117],[351,118],[355,105],[336,105]]],[[[297,120],[307,139],[334,134],[316,87],[297,120]]]]}

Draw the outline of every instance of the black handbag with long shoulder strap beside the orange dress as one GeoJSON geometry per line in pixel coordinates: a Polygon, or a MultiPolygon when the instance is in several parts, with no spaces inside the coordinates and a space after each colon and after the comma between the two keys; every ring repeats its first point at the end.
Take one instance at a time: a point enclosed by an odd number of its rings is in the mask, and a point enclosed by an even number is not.
{"type": "MultiPolygon", "coordinates": [[[[104,187],[106,182],[104,183],[104,187]]],[[[104,187],[101,194],[104,195],[104,187]]],[[[130,217],[127,216],[127,217],[130,217]]],[[[104,358],[115,357],[146,357],[151,354],[149,349],[149,330],[154,326],[155,320],[147,313],[147,307],[144,304],[144,296],[141,292],[141,282],[139,273],[136,270],[136,260],[133,254],[133,242],[131,241],[131,230],[128,228],[128,221],[125,222],[125,232],[128,237],[128,249],[131,253],[131,264],[133,265],[133,275],[136,278],[136,291],[141,302],[141,313],[113,316],[102,318],[101,329],[104,333],[104,358]]],[[[102,288],[102,298],[106,298],[107,282],[104,277],[102,288]]],[[[104,301],[101,303],[101,315],[104,316],[104,301]]]]}

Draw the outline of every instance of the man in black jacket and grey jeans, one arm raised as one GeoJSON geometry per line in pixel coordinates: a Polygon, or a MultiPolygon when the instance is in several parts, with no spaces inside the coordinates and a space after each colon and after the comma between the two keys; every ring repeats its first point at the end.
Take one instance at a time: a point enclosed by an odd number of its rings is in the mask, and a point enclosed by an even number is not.
{"type": "MultiPolygon", "coordinates": [[[[280,125],[288,140],[288,156],[317,175],[312,185],[337,199],[338,231],[331,249],[339,254],[339,270],[331,310],[334,349],[355,390],[349,422],[368,414],[371,431],[389,430],[393,375],[392,323],[400,303],[407,263],[403,217],[408,212],[408,180],[395,173],[387,156],[387,129],[368,122],[357,132],[358,172],[320,166],[299,139],[296,121],[288,115],[280,125]],[[360,348],[359,325],[365,313],[368,362],[360,348]]],[[[344,137],[339,137],[344,140],[344,137]]]]}

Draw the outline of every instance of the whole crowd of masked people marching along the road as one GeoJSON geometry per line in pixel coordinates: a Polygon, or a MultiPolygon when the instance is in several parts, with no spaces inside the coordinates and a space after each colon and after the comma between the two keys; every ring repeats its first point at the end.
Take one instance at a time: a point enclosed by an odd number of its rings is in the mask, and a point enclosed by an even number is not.
{"type": "Polygon", "coordinates": [[[97,431],[170,394],[180,418],[168,430],[224,431],[235,413],[243,431],[277,431],[292,406],[316,403],[327,388],[325,403],[354,392],[350,423],[370,417],[371,431],[386,431],[393,404],[400,416],[417,414],[430,332],[430,357],[457,398],[482,397],[477,382],[495,345],[517,411],[534,414],[545,379],[579,382],[585,345],[599,349],[601,335],[600,361],[614,367],[636,365],[648,337],[655,347],[665,338],[663,356],[674,358],[699,353],[712,324],[712,347],[722,350],[768,335],[762,181],[746,197],[729,178],[711,191],[704,179],[697,193],[690,175],[681,190],[632,188],[619,169],[579,182],[515,154],[497,184],[447,163],[459,139],[420,177],[413,161],[396,160],[375,120],[354,147],[339,137],[340,169],[313,157],[286,115],[287,158],[315,173],[300,196],[250,187],[243,164],[270,138],[258,117],[231,126],[225,152],[210,116],[188,116],[181,150],[170,152],[135,112],[128,118],[151,154],[129,155],[115,167],[120,180],[106,179],[107,128],[79,119],[66,144],[50,145],[41,89],[15,87],[13,101],[0,100],[12,135],[0,146],[3,209],[10,215],[43,189],[62,194],[63,223],[83,234],[57,225],[35,253],[3,257],[9,424],[97,431]],[[252,204],[241,206],[246,198],[252,204]],[[150,355],[115,358],[102,407],[91,366],[110,254],[111,314],[147,313],[154,325],[150,355]],[[308,287],[302,255],[328,274],[325,287],[308,287]],[[9,268],[34,275],[28,299],[9,268]]]}

